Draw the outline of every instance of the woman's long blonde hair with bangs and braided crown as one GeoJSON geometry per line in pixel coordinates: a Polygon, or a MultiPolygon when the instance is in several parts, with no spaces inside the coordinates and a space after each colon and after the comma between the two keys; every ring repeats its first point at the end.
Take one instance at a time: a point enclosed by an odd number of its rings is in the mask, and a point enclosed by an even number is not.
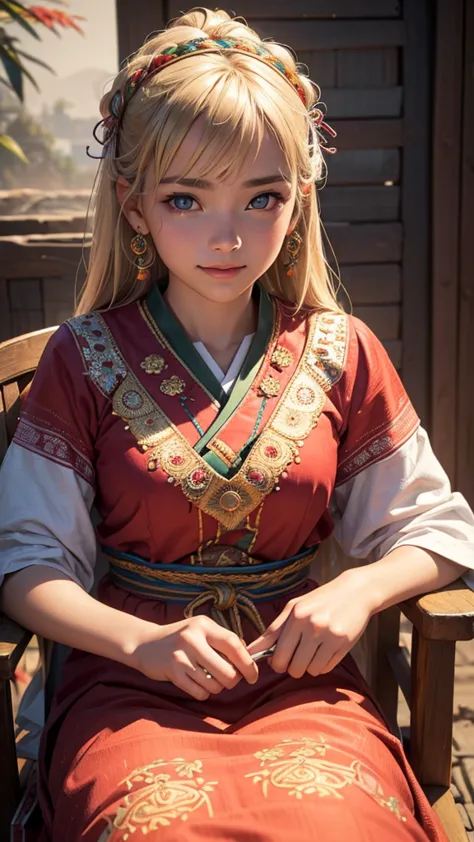
{"type": "MultiPolygon", "coordinates": [[[[154,55],[173,45],[210,36],[262,43],[241,18],[231,18],[220,10],[192,9],[147,40],[129,59],[102,98],[101,114],[106,117],[110,113],[114,94],[123,92],[131,75],[154,55]]],[[[299,71],[288,48],[268,41],[264,44],[290,73],[299,71]]],[[[123,177],[130,185],[128,196],[139,193],[152,164],[158,183],[201,115],[205,115],[205,131],[189,161],[189,171],[202,165],[206,151],[217,178],[232,176],[241,167],[250,144],[257,140],[258,147],[263,132],[269,130],[296,179],[296,230],[303,238],[300,258],[293,275],[288,277],[283,246],[261,279],[263,286],[298,309],[304,306],[340,311],[332,272],[324,256],[318,199],[312,189],[313,182],[324,172],[317,135],[307,111],[318,101],[319,90],[303,73],[298,72],[298,78],[306,107],[283,73],[252,54],[220,51],[217,45],[215,52],[192,53],[171,62],[144,82],[125,108],[116,143],[112,141],[104,147],[92,194],[92,246],[77,314],[134,301],[154,282],[136,278],[129,246],[136,232],[117,199],[116,183],[123,177]]],[[[204,176],[204,170],[199,175],[204,176]]],[[[157,270],[164,271],[159,257],[157,270]]]]}

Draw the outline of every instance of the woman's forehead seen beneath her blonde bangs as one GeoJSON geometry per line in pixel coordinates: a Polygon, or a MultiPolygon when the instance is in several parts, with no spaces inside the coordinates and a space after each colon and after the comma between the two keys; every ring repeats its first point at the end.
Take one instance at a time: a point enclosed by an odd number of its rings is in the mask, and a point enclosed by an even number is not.
{"type": "MultiPolygon", "coordinates": [[[[212,180],[215,177],[217,180],[217,170],[222,171],[223,161],[216,168],[216,143],[206,143],[206,137],[208,125],[198,118],[184,137],[163,177],[186,175],[188,178],[199,178],[205,173],[207,178],[212,180]],[[190,167],[191,161],[193,164],[190,167]]],[[[219,145],[219,126],[215,127],[215,141],[219,145]]],[[[261,136],[254,137],[250,143],[236,142],[231,145],[228,157],[230,160],[225,161],[225,164],[232,175],[226,177],[225,181],[229,184],[277,172],[290,179],[285,155],[268,128],[264,128],[261,136]]]]}

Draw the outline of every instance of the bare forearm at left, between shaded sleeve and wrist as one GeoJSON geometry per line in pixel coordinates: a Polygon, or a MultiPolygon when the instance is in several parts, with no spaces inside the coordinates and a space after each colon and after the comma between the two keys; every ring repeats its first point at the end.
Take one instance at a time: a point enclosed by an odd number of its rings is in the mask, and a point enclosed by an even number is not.
{"type": "Polygon", "coordinates": [[[65,574],[41,565],[7,577],[0,608],[35,634],[133,667],[137,646],[156,632],[153,623],[103,605],[65,574]]]}

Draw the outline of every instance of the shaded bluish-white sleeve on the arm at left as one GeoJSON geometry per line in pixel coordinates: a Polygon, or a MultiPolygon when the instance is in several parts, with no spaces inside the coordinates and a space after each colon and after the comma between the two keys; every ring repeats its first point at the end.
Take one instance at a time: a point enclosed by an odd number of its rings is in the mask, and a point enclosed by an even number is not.
{"type": "Polygon", "coordinates": [[[11,444],[0,470],[0,584],[7,573],[41,564],[89,591],[93,500],[92,486],[71,468],[11,444]]]}

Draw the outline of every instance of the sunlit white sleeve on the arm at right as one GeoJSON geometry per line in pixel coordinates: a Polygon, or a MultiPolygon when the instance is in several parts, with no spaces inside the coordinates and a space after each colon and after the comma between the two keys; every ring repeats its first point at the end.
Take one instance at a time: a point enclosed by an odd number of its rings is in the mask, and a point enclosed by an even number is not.
{"type": "Polygon", "coordinates": [[[337,486],[331,511],[347,555],[377,560],[404,544],[421,547],[469,568],[463,578],[474,589],[474,514],[451,491],[423,429],[337,486]]]}

